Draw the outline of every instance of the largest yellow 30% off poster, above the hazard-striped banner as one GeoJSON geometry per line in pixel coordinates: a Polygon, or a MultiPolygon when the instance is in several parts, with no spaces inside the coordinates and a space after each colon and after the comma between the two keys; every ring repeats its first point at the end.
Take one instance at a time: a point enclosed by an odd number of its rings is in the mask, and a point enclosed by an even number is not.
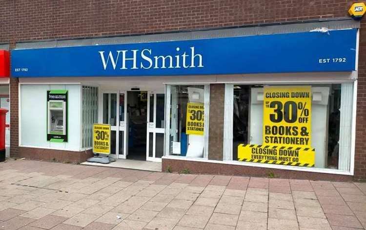
{"type": "Polygon", "coordinates": [[[311,87],[265,87],[263,144],[311,146],[311,87]]]}

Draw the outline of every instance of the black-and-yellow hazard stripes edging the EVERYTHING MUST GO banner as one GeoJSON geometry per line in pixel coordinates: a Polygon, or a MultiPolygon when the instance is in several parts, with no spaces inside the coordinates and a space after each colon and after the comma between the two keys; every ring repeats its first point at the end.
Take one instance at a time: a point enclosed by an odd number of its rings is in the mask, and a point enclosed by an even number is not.
{"type": "MultiPolygon", "coordinates": [[[[287,147],[287,146],[272,146],[272,145],[249,145],[249,144],[240,144],[242,147],[249,148],[263,148],[263,149],[281,149],[281,150],[296,150],[296,151],[311,151],[315,152],[315,149],[311,149],[308,147],[287,147]]],[[[276,165],[289,165],[289,166],[301,166],[301,167],[314,167],[314,164],[308,163],[299,163],[299,162],[286,162],[286,161],[276,161],[276,160],[256,160],[256,159],[247,159],[247,158],[239,158],[238,161],[246,161],[246,162],[255,162],[255,163],[264,163],[264,164],[276,164],[276,165]]]]}

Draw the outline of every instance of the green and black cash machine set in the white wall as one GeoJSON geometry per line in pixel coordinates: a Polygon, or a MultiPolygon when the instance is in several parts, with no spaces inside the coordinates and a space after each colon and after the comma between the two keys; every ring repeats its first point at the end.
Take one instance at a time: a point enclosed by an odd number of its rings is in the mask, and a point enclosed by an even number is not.
{"type": "Polygon", "coordinates": [[[47,91],[47,141],[67,142],[67,90],[47,91]]]}

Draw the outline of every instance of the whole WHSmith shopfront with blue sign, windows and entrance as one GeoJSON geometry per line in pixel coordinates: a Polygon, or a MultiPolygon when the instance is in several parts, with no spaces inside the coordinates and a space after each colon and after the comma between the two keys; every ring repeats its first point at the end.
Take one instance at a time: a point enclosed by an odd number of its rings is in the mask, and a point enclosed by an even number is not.
{"type": "Polygon", "coordinates": [[[20,153],[82,160],[103,123],[114,157],[163,170],[353,175],[359,23],[343,23],[17,44],[20,153]]]}

